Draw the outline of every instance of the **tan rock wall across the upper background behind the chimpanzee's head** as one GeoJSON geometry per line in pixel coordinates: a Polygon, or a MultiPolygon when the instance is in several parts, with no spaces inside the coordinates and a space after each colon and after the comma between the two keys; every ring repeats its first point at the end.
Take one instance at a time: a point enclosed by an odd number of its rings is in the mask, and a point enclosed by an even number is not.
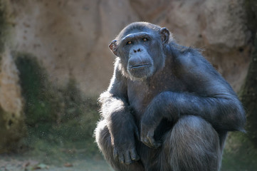
{"type": "MultiPolygon", "coordinates": [[[[11,43],[0,47],[6,51],[3,51],[0,71],[0,105],[7,113],[6,118],[13,114],[20,115],[19,120],[23,118],[19,71],[9,51],[36,56],[56,86],[75,79],[86,96],[97,97],[107,88],[112,76],[115,57],[108,44],[133,21],[165,26],[179,43],[203,49],[204,56],[236,91],[246,77],[252,35],[246,26],[243,0],[8,2],[11,43]]],[[[1,122],[6,119],[0,118],[1,122]]]]}

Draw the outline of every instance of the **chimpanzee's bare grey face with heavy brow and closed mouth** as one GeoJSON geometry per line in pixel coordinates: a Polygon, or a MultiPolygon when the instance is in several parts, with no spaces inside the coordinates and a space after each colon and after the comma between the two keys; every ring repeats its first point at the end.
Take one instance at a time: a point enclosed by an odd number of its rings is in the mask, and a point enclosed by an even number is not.
{"type": "Polygon", "coordinates": [[[132,79],[149,78],[159,68],[163,68],[163,46],[162,33],[146,29],[132,30],[110,43],[110,49],[120,57],[122,67],[132,79]]]}

